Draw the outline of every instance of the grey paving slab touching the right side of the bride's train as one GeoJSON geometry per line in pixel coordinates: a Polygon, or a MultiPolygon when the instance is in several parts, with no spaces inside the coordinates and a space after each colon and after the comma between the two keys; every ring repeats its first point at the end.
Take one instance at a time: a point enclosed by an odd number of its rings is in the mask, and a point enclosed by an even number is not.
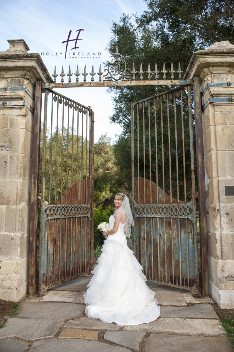
{"type": "Polygon", "coordinates": [[[160,316],[167,318],[205,318],[218,319],[214,308],[210,304],[195,304],[190,307],[160,307],[160,316]]]}

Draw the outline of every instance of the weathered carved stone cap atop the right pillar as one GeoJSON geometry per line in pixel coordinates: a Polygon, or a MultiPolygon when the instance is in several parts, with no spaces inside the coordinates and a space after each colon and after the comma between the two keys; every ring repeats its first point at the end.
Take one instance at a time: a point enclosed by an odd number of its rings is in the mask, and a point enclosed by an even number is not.
{"type": "Polygon", "coordinates": [[[191,80],[208,73],[217,73],[213,68],[218,66],[234,68],[234,45],[228,40],[216,42],[208,50],[196,51],[190,59],[183,79],[191,80]]]}

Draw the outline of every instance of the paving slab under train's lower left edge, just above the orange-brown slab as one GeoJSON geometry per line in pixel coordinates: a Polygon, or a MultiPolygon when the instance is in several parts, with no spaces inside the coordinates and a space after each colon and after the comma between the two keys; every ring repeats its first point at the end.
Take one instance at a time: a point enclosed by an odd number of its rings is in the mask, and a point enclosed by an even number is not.
{"type": "Polygon", "coordinates": [[[104,330],[119,330],[119,326],[115,323],[103,323],[100,319],[84,318],[69,320],[64,327],[66,328],[90,328],[104,330]]]}

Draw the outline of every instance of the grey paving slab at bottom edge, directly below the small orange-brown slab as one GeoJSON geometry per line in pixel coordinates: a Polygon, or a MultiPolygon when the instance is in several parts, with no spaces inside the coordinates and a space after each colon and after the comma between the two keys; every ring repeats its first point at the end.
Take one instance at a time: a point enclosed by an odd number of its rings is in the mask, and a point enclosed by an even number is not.
{"type": "Polygon", "coordinates": [[[41,340],[33,342],[30,352],[64,352],[64,351],[85,351],[85,352],[127,352],[128,348],[110,346],[99,341],[87,340],[41,340]]]}

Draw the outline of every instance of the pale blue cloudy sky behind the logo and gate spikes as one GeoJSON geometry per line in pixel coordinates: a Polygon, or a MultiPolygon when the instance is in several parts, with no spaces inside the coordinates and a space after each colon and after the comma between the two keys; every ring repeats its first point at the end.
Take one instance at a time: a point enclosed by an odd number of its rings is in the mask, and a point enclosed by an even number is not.
{"type": "MultiPolygon", "coordinates": [[[[113,21],[119,21],[123,13],[141,14],[146,10],[147,5],[143,0],[68,0],[68,1],[35,1],[35,0],[11,0],[1,1],[1,36],[0,51],[8,49],[7,39],[24,39],[30,48],[29,52],[39,52],[50,75],[56,65],[57,73],[61,73],[64,65],[64,73],[68,73],[71,65],[72,82],[75,82],[74,73],[77,64],[79,72],[83,72],[86,64],[87,72],[91,72],[94,65],[94,72],[99,71],[99,65],[104,69],[103,62],[109,59],[105,50],[107,43],[112,36],[111,27],[113,21]],[[68,46],[67,58],[65,59],[65,44],[61,42],[67,40],[71,30],[71,39],[76,38],[76,31],[84,29],[80,37],[78,46],[80,49],[72,52],[80,52],[80,59],[69,58],[68,46]],[[46,52],[49,55],[46,55],[46,52]],[[56,56],[56,52],[58,56],[56,56]],[[59,54],[62,52],[62,56],[59,54]],[[91,52],[101,53],[93,58],[84,58],[81,53],[92,55],[91,52]],[[53,53],[53,56],[51,55],[53,53]],[[98,56],[98,59],[96,59],[98,56]],[[81,57],[83,57],[81,59],[81,57]],[[99,58],[100,57],[100,58],[99,58]]],[[[73,42],[74,43],[74,42],[73,42]]],[[[82,75],[81,75],[82,76],[82,75]]],[[[80,76],[80,77],[81,77],[80,76]]],[[[66,76],[67,77],[67,76],[66,76]]],[[[79,77],[79,78],[80,78],[79,77]]],[[[87,81],[91,76],[88,75],[87,81]]],[[[57,77],[58,78],[58,77],[57,77]]],[[[82,76],[83,78],[83,76],[82,76]]],[[[99,76],[94,76],[98,81],[99,76]]],[[[64,81],[68,77],[64,77],[64,81]]],[[[112,115],[113,103],[111,94],[106,88],[66,88],[59,89],[58,92],[74,99],[84,105],[90,105],[95,114],[95,141],[99,136],[107,132],[114,142],[115,134],[121,132],[118,125],[109,123],[109,116],[112,115]]]]}

